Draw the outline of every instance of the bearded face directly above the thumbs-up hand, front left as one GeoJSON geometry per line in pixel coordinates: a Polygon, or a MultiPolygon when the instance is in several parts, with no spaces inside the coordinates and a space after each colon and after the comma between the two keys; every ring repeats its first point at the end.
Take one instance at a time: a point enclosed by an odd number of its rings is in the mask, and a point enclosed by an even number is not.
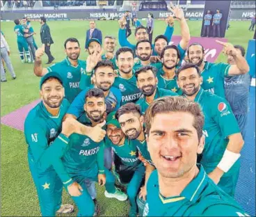
{"type": "Polygon", "coordinates": [[[103,97],[87,97],[83,108],[90,120],[99,122],[106,111],[106,104],[103,97]]]}

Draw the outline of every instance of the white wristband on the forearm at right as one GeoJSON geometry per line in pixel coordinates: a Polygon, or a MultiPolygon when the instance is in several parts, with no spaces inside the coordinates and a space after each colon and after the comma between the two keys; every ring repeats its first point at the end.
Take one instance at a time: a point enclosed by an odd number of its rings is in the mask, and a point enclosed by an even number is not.
{"type": "Polygon", "coordinates": [[[230,152],[229,150],[226,149],[217,167],[223,170],[224,172],[227,172],[239,159],[240,156],[241,154],[230,152]]]}

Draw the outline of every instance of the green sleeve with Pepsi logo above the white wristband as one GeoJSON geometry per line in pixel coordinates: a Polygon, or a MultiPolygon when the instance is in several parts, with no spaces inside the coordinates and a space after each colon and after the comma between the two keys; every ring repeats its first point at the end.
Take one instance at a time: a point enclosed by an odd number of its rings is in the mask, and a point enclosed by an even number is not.
{"type": "Polygon", "coordinates": [[[224,138],[240,132],[237,120],[234,117],[227,100],[221,97],[216,97],[214,103],[211,104],[211,114],[214,120],[218,123],[224,138]]]}

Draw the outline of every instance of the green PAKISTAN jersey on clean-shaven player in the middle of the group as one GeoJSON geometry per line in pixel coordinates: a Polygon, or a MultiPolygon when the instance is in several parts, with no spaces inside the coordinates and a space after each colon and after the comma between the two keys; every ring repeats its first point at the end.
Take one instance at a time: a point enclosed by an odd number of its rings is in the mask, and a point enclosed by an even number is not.
{"type": "Polygon", "coordinates": [[[125,79],[118,75],[115,78],[113,87],[118,88],[122,93],[121,106],[128,102],[136,102],[141,97],[141,90],[136,85],[136,77],[133,74],[129,79],[125,79]]]}

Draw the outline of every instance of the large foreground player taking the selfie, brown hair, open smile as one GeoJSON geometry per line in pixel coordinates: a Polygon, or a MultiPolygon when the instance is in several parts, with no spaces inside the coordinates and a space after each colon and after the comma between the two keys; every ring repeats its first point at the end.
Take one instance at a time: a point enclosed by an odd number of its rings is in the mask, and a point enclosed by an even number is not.
{"type": "Polygon", "coordinates": [[[147,147],[157,170],[147,182],[143,216],[248,216],[196,164],[204,148],[197,103],[162,97],[145,113],[147,147]]]}

